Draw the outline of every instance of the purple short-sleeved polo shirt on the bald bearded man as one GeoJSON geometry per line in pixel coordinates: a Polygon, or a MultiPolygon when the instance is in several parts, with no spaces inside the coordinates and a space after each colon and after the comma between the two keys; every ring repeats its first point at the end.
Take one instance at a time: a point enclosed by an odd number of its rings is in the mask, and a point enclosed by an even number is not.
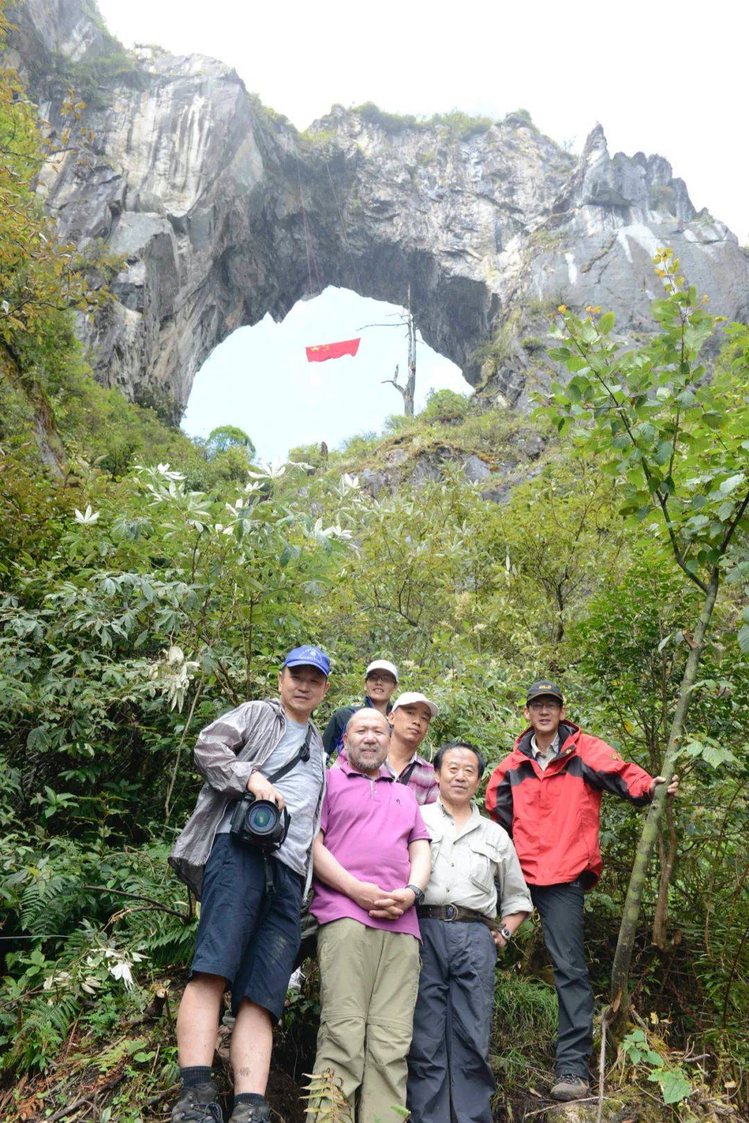
{"type": "MultiPolygon", "coordinates": [[[[328,772],[320,830],[325,844],[344,869],[360,882],[374,882],[385,891],[401,889],[408,884],[409,843],[430,839],[413,792],[398,784],[386,768],[369,778],[348,761],[328,772]]],[[[415,909],[407,909],[396,920],[377,920],[317,877],[312,886],[310,912],[320,924],[349,917],[368,928],[407,932],[420,939],[415,909]]]]}

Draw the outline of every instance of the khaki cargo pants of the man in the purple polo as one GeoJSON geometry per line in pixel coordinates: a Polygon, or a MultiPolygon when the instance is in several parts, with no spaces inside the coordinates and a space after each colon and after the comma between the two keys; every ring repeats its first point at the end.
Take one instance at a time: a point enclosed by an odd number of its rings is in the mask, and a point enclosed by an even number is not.
{"type": "MultiPolygon", "coordinates": [[[[402,1123],[419,941],[355,920],[335,920],[318,934],[320,1031],[314,1071],[334,1070],[358,1123],[402,1123]]],[[[310,1113],[308,1123],[313,1123],[310,1113]]]]}

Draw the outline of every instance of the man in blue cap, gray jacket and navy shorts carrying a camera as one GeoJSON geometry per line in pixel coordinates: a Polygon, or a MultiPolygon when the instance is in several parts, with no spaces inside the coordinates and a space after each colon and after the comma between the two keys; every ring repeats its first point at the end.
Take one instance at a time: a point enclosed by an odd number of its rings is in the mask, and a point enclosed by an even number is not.
{"type": "Polygon", "coordinates": [[[201,898],[195,953],[177,1016],[182,1088],[173,1123],[220,1123],[211,1062],[227,987],[236,1016],[230,1123],[271,1119],[265,1086],[272,1031],[299,949],[301,903],[325,793],[325,750],[310,719],[328,690],[329,672],[319,648],[294,648],[278,672],[280,701],[245,702],[198,738],[195,765],[207,783],[170,855],[177,875],[201,898]],[[267,779],[292,763],[275,784],[267,779]],[[286,837],[270,858],[230,833],[236,801],[245,792],[290,812],[286,837]]]}

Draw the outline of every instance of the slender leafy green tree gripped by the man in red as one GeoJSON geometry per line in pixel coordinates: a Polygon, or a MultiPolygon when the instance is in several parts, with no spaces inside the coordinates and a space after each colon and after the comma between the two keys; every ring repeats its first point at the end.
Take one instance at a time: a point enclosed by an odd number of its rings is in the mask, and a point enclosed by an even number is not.
{"type": "MultiPolygon", "coordinates": [[[[670,780],[684,747],[697,668],[731,551],[749,530],[749,366],[739,358],[707,377],[700,354],[721,317],[687,285],[670,248],[655,258],[665,296],[652,305],[658,332],[632,348],[613,335],[612,312],[581,318],[559,307],[550,357],[572,377],[555,385],[550,414],[560,433],[595,453],[621,491],[620,513],[658,536],[700,593],[660,773],[670,780]]],[[[745,353],[746,359],[746,353],[745,353]]],[[[629,971],[648,866],[666,805],[659,786],[637,847],[611,976],[612,1010],[629,1010],[629,971]]]]}

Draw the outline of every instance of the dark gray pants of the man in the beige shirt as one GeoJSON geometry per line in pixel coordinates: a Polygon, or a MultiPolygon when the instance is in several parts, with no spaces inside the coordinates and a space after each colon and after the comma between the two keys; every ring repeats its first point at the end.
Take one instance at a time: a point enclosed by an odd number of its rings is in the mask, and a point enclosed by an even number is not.
{"type": "Polygon", "coordinates": [[[484,924],[419,921],[421,977],[409,1053],[413,1123],[492,1123],[488,1041],[496,947],[484,924]]]}

